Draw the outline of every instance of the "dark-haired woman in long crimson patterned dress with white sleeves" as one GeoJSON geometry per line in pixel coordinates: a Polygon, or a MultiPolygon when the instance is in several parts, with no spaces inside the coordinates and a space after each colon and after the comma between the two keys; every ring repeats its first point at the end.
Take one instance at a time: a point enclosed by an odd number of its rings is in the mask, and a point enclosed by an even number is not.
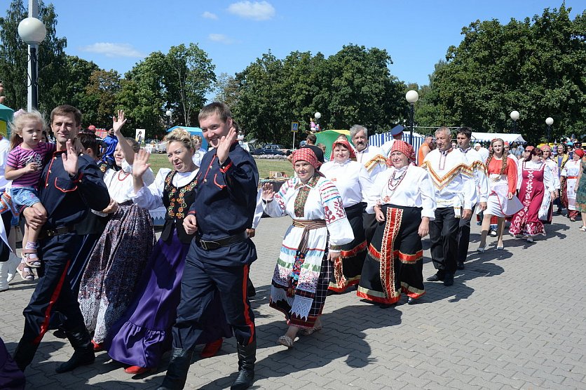
{"type": "Polygon", "coordinates": [[[539,220],[539,208],[543,196],[550,196],[552,201],[555,199],[555,188],[552,170],[541,160],[543,151],[526,147],[525,152],[529,152],[529,157],[522,161],[517,176],[519,201],[523,208],[513,215],[509,231],[513,236],[522,234],[527,241],[533,242],[536,234],[545,235],[543,222],[539,220]]]}

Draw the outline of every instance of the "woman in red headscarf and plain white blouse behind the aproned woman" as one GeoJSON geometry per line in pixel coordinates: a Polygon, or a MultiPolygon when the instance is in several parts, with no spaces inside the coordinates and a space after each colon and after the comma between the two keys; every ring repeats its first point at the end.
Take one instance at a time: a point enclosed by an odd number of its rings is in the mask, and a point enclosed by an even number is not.
{"type": "Polygon", "coordinates": [[[340,192],[346,216],[354,232],[354,240],[341,248],[340,257],[334,262],[332,281],[329,282],[330,291],[343,292],[360,281],[367,250],[362,224],[366,203],[362,200],[367,199],[372,179],[366,168],[356,161],[354,149],[350,147],[346,137],[332,144],[332,159],[320,167],[320,172],[332,180],[340,192]]]}

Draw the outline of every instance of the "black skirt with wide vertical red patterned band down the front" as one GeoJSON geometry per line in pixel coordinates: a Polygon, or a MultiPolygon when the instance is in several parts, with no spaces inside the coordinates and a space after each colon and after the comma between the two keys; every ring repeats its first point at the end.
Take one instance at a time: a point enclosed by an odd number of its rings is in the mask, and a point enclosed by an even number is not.
{"type": "Polygon", "coordinates": [[[417,299],[425,294],[421,208],[383,205],[383,213],[386,221],[376,227],[357,295],[381,304],[396,303],[401,292],[417,299]]]}

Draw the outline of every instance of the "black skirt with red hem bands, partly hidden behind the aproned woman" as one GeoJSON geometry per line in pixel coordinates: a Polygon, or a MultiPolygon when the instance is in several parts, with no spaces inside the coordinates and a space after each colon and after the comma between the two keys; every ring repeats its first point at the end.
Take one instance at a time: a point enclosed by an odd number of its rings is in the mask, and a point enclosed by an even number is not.
{"type": "Polygon", "coordinates": [[[351,285],[357,285],[360,281],[360,273],[367,253],[366,236],[362,223],[362,214],[365,208],[366,203],[356,203],[344,208],[354,233],[354,240],[342,246],[340,257],[334,261],[334,271],[328,290],[343,292],[351,285]]]}

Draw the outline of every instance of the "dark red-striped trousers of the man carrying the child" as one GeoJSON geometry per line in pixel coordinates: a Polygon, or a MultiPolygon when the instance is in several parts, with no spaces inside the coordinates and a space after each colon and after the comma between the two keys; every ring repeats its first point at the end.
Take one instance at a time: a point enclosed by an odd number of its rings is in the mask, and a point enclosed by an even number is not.
{"type": "Polygon", "coordinates": [[[82,238],[69,233],[39,242],[43,266],[39,269],[39,281],[31,300],[22,312],[25,315],[25,332],[18,343],[17,355],[20,356],[15,356],[23,365],[31,363],[34,352],[48,330],[53,312],[62,315],[61,326],[66,332],[83,332],[86,329],[77,297],[71,292],[67,276],[67,269],[81,246],[82,238]]]}

